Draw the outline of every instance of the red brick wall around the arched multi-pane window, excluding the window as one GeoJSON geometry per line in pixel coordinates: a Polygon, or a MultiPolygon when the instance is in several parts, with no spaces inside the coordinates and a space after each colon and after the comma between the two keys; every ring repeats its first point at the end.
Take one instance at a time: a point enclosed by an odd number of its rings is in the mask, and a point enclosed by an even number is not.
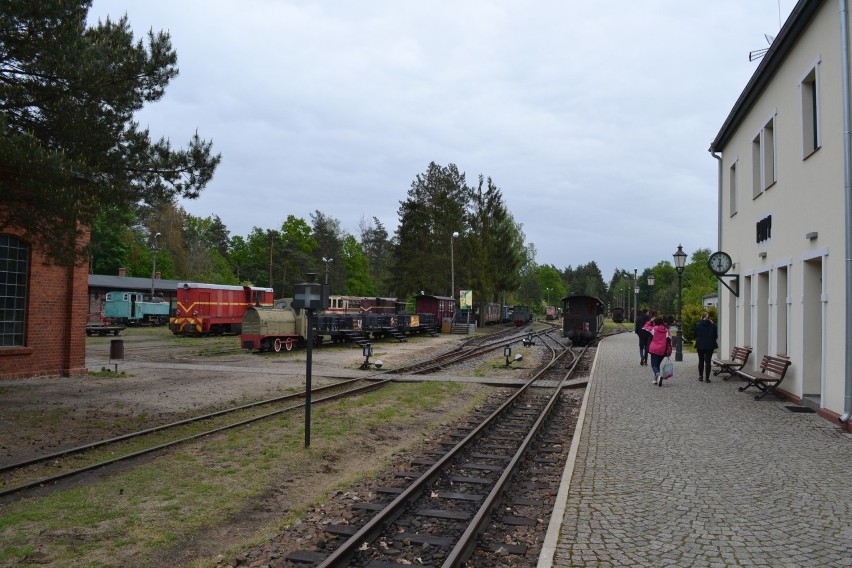
{"type": "MultiPolygon", "coordinates": [[[[13,229],[3,232],[24,239],[13,229]]],[[[26,345],[0,347],[0,378],[86,372],[88,266],[49,264],[30,243],[29,270],[26,345]]]]}

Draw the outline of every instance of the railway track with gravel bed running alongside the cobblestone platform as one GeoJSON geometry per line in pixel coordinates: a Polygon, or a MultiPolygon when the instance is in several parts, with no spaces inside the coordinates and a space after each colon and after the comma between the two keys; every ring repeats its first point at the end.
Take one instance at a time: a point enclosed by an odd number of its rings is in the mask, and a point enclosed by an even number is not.
{"type": "Polygon", "coordinates": [[[322,545],[269,557],[378,568],[513,565],[498,558],[516,555],[524,559],[517,565],[532,565],[580,406],[565,386],[592,356],[540,337],[550,361],[524,387],[397,471],[346,523],[327,524],[322,545]]]}

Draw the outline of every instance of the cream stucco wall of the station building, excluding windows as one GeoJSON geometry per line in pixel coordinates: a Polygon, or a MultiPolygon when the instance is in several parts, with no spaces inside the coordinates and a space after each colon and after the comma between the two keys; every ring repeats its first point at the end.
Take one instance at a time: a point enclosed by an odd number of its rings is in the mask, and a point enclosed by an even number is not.
{"type": "Polygon", "coordinates": [[[740,274],[740,297],[722,288],[723,352],[786,353],[781,388],[843,410],[845,245],[839,10],[824,2],[768,87],[722,148],[722,250],[740,274]],[[819,148],[803,156],[801,83],[817,70],[819,148]],[[753,196],[753,140],[773,121],[776,182],[753,196]],[[737,210],[731,215],[732,164],[737,210]],[[771,216],[771,238],[757,223],[771,216]],[[817,238],[806,238],[817,233],[817,238]],[[764,255],[765,253],[765,255],[764,255]],[[724,318],[728,318],[727,325],[724,318]]]}

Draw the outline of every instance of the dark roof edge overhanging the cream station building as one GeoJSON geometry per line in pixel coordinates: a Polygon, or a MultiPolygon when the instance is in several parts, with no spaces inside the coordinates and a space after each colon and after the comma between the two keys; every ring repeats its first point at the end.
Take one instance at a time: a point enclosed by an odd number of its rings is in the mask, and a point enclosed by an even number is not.
{"type": "Polygon", "coordinates": [[[790,17],[784,22],[781,31],[778,32],[772,45],[769,46],[769,50],[761,59],[760,65],[757,66],[737,102],[734,103],[728,118],[722,124],[716,138],[710,144],[711,152],[722,151],[722,148],[739,127],[740,122],[748,115],[752,106],[772,81],[775,72],[781,67],[787,55],[793,49],[796,40],[807,29],[808,24],[823,2],[825,0],[799,0],[793,8],[790,17]]]}

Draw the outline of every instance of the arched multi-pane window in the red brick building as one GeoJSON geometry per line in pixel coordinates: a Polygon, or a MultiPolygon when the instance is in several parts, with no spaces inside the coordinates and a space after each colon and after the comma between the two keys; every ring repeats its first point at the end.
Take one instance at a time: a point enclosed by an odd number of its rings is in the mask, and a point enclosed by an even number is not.
{"type": "Polygon", "coordinates": [[[0,235],[0,347],[24,345],[30,251],[11,235],[0,235]]]}

